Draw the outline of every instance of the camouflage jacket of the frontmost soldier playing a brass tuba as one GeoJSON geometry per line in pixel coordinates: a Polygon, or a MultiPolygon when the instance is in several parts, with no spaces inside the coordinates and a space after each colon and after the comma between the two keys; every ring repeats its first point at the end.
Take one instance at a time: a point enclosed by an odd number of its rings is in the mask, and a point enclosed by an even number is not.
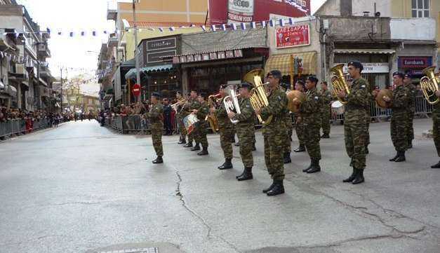
{"type": "Polygon", "coordinates": [[[263,121],[272,115],[272,122],[268,125],[265,125],[265,128],[268,128],[272,131],[278,131],[279,127],[285,126],[285,118],[287,111],[287,95],[284,91],[277,88],[276,90],[272,90],[270,95],[267,97],[269,101],[269,105],[267,107],[263,107],[261,109],[261,116],[263,121]]]}

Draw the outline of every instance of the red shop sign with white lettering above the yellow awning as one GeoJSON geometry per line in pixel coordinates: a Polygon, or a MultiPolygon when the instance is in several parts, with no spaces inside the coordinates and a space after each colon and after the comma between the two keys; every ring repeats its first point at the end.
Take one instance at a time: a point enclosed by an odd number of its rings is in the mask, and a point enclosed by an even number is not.
{"type": "Polygon", "coordinates": [[[310,45],[309,25],[276,28],[276,48],[310,45]]]}

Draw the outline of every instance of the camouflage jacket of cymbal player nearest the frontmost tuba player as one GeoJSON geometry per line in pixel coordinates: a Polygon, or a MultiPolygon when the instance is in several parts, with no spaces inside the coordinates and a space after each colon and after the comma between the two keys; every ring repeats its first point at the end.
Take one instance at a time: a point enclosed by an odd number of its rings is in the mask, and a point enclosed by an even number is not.
{"type": "Polygon", "coordinates": [[[300,114],[304,123],[318,123],[321,121],[321,95],[316,88],[307,90],[305,93],[305,101],[300,105],[300,114]]]}

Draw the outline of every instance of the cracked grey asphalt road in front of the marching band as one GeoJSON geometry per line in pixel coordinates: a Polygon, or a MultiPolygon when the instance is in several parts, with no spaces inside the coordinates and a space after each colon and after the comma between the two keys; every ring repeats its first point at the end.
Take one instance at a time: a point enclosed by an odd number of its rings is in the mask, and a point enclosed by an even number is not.
{"type": "MultiPolygon", "coordinates": [[[[95,121],[0,142],[0,252],[102,252],[148,245],[188,252],[440,252],[440,170],[432,139],[415,121],[406,163],[394,155],[389,123],[371,124],[366,183],[349,175],[342,126],[321,140],[323,171],[301,172],[307,153],[286,166],[286,194],[270,184],[258,132],[254,179],[220,171],[218,135],[199,157],[164,137],[153,165],[150,137],[119,135],[95,121]],[[164,244],[165,243],[165,244],[164,244]],[[116,246],[112,246],[116,245],[116,246]],[[117,246],[119,245],[119,246],[117,246]],[[100,248],[100,249],[98,249],[100,248]]],[[[295,134],[294,134],[295,136],[295,134]]],[[[293,141],[292,146],[298,142],[293,141]]]]}

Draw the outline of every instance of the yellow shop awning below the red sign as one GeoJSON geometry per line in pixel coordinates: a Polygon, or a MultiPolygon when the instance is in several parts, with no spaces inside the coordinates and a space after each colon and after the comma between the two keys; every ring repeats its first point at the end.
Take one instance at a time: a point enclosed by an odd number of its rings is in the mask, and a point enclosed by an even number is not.
{"type": "Polygon", "coordinates": [[[302,74],[316,74],[316,52],[272,55],[267,59],[265,73],[278,69],[283,76],[293,71],[293,59],[302,59],[302,74]]]}

